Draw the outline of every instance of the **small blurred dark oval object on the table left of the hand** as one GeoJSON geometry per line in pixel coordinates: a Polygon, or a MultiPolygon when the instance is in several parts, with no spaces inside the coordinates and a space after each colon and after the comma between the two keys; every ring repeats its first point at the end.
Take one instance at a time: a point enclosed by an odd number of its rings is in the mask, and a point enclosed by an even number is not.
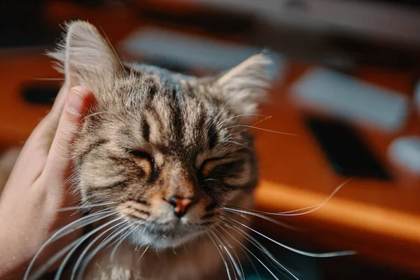
{"type": "Polygon", "coordinates": [[[62,80],[31,81],[22,85],[21,94],[31,104],[53,104],[62,80]]]}

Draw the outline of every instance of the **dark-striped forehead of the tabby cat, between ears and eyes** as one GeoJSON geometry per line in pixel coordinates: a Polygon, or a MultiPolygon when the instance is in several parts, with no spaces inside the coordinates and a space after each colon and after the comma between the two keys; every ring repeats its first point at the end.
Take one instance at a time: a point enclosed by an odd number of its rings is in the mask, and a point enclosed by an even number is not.
{"type": "MultiPolygon", "coordinates": [[[[172,152],[207,150],[221,137],[216,104],[189,76],[148,66],[120,87],[124,104],[100,123],[105,137],[126,148],[149,146],[172,152]]],[[[106,104],[109,108],[109,104],[106,104]]]]}

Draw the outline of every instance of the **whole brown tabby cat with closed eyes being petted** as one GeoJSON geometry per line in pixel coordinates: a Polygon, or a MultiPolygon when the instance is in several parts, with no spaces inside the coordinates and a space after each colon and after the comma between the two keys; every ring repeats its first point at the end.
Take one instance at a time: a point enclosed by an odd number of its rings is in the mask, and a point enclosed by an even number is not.
{"type": "MultiPolygon", "coordinates": [[[[223,207],[253,207],[258,158],[247,126],[267,100],[273,59],[260,53],[218,76],[186,76],[120,62],[84,21],[69,23],[49,55],[66,85],[97,99],[71,155],[87,215],[52,239],[90,228],[61,252],[57,278],[241,279],[247,230],[223,207]]],[[[30,265],[25,278],[46,269],[30,265]]]]}

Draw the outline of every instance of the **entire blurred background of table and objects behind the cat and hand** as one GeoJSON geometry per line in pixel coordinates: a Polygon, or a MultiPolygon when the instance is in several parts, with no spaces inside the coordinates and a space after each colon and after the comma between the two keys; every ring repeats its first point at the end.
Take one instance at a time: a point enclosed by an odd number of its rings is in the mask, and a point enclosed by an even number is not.
{"type": "Polygon", "coordinates": [[[2,150],[50,109],[62,76],[44,53],[66,21],[99,27],[122,59],[197,76],[269,50],[278,71],[255,123],[258,209],[311,207],[353,180],[321,209],[273,216],[297,231],[254,227],[300,250],[358,254],[310,258],[255,237],[299,279],[420,279],[419,1],[4,0],[0,15],[2,150]]]}

